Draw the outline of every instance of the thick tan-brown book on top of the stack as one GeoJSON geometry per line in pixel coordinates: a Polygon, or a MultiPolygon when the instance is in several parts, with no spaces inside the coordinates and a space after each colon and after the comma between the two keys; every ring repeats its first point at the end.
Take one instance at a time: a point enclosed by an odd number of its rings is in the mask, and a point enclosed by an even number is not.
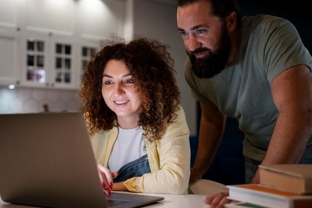
{"type": "Polygon", "coordinates": [[[260,184],[296,194],[312,194],[312,164],[259,165],[260,184]]]}

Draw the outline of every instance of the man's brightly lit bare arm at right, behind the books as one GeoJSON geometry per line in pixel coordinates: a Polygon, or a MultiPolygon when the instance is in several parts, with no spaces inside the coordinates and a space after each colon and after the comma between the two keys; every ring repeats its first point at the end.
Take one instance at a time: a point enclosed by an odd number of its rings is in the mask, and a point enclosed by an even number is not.
{"type": "MultiPolygon", "coordinates": [[[[261,164],[298,163],[312,134],[312,81],[306,65],[279,74],[271,83],[279,111],[266,156],[261,164]]],[[[259,171],[251,183],[259,183],[259,171]]]]}

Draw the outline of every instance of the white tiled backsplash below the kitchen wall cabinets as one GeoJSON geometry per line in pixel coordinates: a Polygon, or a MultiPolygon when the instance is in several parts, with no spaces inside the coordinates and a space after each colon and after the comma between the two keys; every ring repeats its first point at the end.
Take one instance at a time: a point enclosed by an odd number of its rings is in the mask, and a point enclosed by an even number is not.
{"type": "Polygon", "coordinates": [[[0,86],[0,114],[79,111],[78,90],[38,88],[8,89],[0,86]]]}

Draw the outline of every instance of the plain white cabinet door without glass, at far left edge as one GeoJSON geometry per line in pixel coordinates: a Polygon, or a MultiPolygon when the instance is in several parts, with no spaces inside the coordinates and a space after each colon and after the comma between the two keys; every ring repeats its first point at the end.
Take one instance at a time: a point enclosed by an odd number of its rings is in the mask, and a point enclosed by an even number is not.
{"type": "Polygon", "coordinates": [[[16,32],[0,30],[0,85],[18,84],[16,32]]]}

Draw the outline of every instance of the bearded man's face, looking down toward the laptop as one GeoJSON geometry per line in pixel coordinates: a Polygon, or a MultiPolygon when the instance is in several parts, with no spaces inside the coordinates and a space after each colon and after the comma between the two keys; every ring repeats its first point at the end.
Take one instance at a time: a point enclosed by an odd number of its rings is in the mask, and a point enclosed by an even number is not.
{"type": "Polygon", "coordinates": [[[231,41],[225,22],[211,15],[210,4],[200,1],[177,9],[177,24],[192,71],[211,78],[227,64],[231,41]]]}

